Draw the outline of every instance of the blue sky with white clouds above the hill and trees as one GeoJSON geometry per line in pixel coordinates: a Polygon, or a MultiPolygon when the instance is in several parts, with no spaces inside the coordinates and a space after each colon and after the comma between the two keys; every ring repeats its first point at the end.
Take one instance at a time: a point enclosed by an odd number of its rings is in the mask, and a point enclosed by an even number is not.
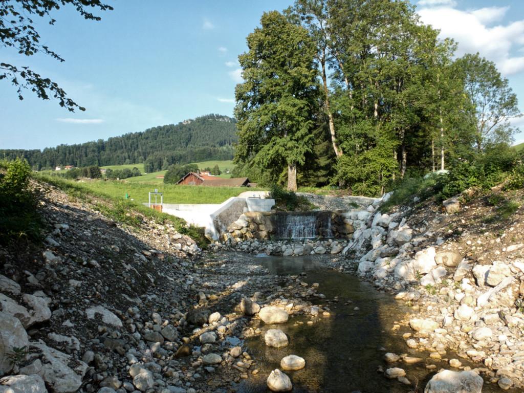
{"type": "MultiPolygon", "coordinates": [[[[71,7],[39,21],[43,54],[23,57],[2,48],[0,61],[29,65],[51,78],[85,112],[68,112],[57,101],[23,91],[19,101],[0,82],[0,149],[43,149],[176,124],[218,113],[232,116],[241,82],[238,54],[265,11],[292,0],[106,0],[101,21],[84,20],[71,7]]],[[[524,2],[518,0],[421,0],[424,23],[459,41],[458,55],[480,52],[492,60],[517,93],[524,110],[524,2]]],[[[524,130],[524,119],[515,125],[524,130]]],[[[524,136],[517,136],[517,140],[524,136]]]]}

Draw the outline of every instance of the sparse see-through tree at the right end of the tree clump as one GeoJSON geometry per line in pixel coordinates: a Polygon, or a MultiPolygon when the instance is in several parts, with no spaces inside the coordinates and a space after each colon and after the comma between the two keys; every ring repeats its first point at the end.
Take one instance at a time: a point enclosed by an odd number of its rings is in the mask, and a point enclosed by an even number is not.
{"type": "Polygon", "coordinates": [[[518,129],[510,119],[520,117],[517,95],[502,78],[495,63],[478,53],[467,53],[455,61],[471,104],[475,108],[475,144],[479,152],[486,144],[509,143],[518,129]]]}

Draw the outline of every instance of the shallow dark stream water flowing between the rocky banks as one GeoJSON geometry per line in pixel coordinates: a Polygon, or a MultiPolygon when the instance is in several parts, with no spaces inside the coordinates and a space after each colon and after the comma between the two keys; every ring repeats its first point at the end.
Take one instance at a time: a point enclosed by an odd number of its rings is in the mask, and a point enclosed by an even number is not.
{"type": "MultiPolygon", "coordinates": [[[[325,299],[313,298],[312,302],[322,309],[329,309],[329,315],[311,320],[298,315],[286,324],[265,325],[255,321],[253,328],[262,332],[246,340],[244,347],[257,359],[261,368],[258,379],[250,378],[239,386],[239,392],[266,392],[266,378],[271,370],[280,368],[280,360],[290,354],[305,359],[305,368],[286,371],[293,383],[293,392],[362,392],[362,393],[407,393],[416,385],[425,387],[429,379],[440,368],[450,368],[444,361],[427,357],[427,353],[411,350],[402,335],[412,332],[409,328],[392,331],[391,328],[403,314],[412,312],[406,305],[377,291],[368,282],[359,281],[355,276],[328,270],[310,257],[265,257],[260,263],[271,274],[307,276],[301,280],[309,285],[318,283],[318,293],[325,299]],[[308,321],[313,323],[308,324],[308,321]],[[264,334],[269,329],[280,329],[289,338],[289,346],[272,348],[265,345],[264,334]],[[407,353],[411,357],[423,357],[416,364],[386,364],[386,352],[407,353]],[[429,370],[427,365],[436,368],[429,370]],[[406,370],[411,385],[398,380],[386,379],[377,369],[401,367],[406,370]]],[[[292,299],[290,299],[292,300],[292,299]]],[[[449,358],[455,357],[448,353],[449,358]]],[[[461,359],[463,360],[463,359],[461,359]]],[[[468,365],[463,361],[464,365],[468,365]]],[[[472,368],[475,365],[470,365],[472,368]]],[[[478,366],[478,365],[477,365],[478,366]]],[[[492,384],[485,384],[484,392],[502,391],[492,384]]]]}

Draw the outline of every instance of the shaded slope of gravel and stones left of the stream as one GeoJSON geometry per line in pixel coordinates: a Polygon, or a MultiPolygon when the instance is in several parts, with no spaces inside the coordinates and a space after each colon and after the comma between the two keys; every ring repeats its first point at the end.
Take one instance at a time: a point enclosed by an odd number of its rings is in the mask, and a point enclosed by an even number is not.
{"type": "Polygon", "coordinates": [[[0,249],[0,392],[234,391],[257,374],[233,344],[248,332],[242,300],[285,308],[315,292],[296,277],[282,290],[242,258],[203,258],[170,225],[131,212],[125,225],[100,213],[106,201],[38,187],[45,244],[0,249]]]}

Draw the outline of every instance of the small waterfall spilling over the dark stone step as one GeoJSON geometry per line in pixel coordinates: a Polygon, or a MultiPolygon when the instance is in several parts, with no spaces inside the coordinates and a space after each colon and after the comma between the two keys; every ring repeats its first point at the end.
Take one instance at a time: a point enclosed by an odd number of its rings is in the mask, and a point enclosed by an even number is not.
{"type": "Polygon", "coordinates": [[[325,211],[276,213],[276,226],[279,239],[333,237],[331,213],[325,211]]]}

